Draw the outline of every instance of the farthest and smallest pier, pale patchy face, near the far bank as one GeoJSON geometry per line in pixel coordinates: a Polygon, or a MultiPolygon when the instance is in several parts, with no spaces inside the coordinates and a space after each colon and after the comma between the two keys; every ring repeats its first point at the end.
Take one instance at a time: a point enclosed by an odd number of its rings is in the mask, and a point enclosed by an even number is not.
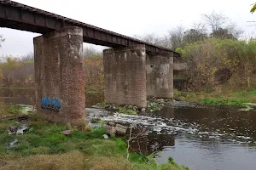
{"type": "Polygon", "coordinates": [[[172,54],[147,54],[147,96],[173,98],[172,54]]]}

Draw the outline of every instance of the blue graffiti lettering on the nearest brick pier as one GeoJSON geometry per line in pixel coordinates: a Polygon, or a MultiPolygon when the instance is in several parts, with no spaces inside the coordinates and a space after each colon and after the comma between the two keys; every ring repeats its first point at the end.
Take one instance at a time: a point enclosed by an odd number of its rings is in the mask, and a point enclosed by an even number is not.
{"type": "Polygon", "coordinates": [[[61,100],[58,98],[49,98],[47,96],[43,96],[41,99],[41,105],[43,109],[48,109],[51,111],[61,110],[61,100]]]}

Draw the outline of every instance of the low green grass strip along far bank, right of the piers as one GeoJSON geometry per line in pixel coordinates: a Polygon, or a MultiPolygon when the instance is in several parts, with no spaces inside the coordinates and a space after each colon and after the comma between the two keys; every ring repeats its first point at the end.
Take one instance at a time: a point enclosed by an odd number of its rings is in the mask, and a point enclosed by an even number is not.
{"type": "Polygon", "coordinates": [[[175,90],[174,99],[206,105],[245,105],[245,103],[256,103],[256,89],[222,93],[179,92],[175,90]]]}

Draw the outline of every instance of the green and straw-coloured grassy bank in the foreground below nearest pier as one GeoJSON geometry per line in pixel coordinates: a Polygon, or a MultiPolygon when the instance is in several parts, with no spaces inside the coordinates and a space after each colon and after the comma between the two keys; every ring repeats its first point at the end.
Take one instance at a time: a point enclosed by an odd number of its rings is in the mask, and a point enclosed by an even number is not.
{"type": "Polygon", "coordinates": [[[32,117],[23,135],[7,133],[15,121],[0,122],[0,168],[3,169],[173,169],[182,170],[172,158],[157,164],[151,156],[131,154],[126,160],[124,139],[102,139],[102,127],[83,128],[45,122],[32,117]],[[60,133],[72,129],[71,135],[60,133]],[[15,141],[13,147],[9,143],[15,141]]]}

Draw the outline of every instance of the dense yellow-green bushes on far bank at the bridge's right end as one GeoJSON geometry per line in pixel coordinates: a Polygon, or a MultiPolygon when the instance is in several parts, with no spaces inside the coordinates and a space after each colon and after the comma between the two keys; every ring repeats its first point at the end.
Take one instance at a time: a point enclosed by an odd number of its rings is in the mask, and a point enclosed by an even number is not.
{"type": "Polygon", "coordinates": [[[207,39],[177,48],[189,65],[189,88],[249,89],[256,85],[256,42],[207,39]]]}

